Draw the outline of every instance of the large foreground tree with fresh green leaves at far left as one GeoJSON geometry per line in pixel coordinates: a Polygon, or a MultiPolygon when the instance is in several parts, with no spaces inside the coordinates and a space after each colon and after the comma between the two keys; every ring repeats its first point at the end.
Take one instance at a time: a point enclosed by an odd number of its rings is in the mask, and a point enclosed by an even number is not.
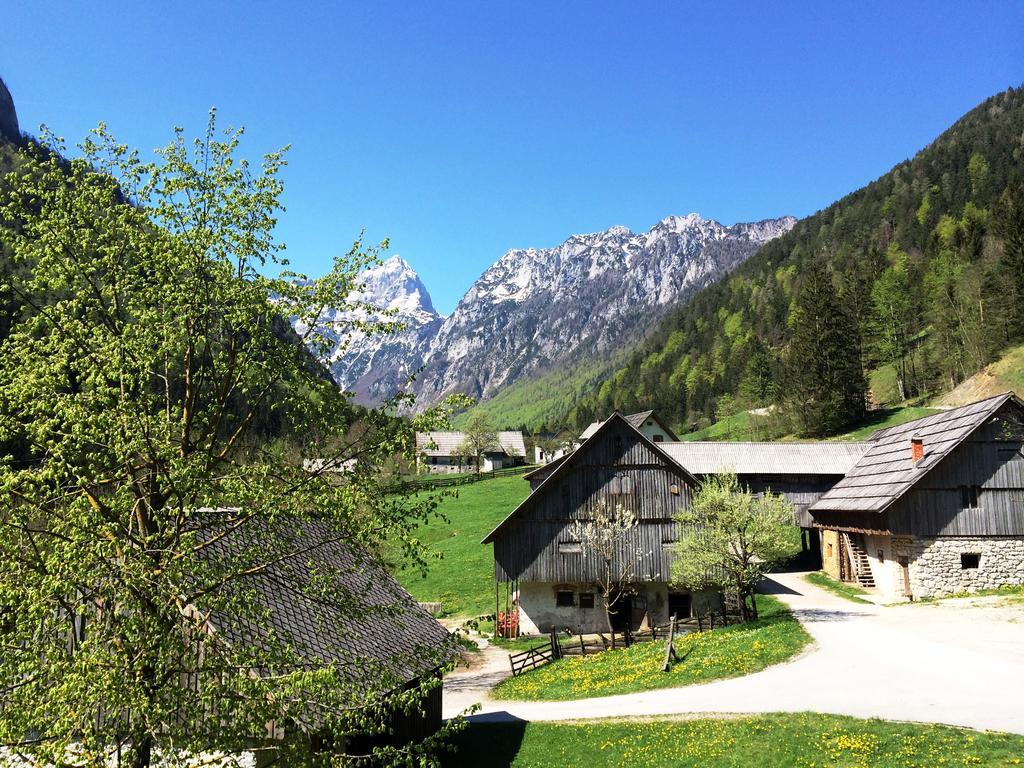
{"type": "MultiPolygon", "coordinates": [[[[351,627],[386,614],[308,553],[343,547],[357,571],[390,542],[422,564],[410,530],[434,502],[389,495],[379,471],[415,456],[414,426],[356,412],[284,319],[352,307],[375,249],[322,280],[266,276],[287,264],[284,158],[253,168],[240,136],[211,116],[147,163],[100,127],[70,162],[51,137],[30,145],[2,181],[19,311],[0,341],[0,444],[25,449],[0,461],[0,742],[33,764],[231,758],[268,722],[315,722],[343,753],[435,684],[403,689],[397,651],[378,669],[260,630],[253,579],[271,572],[351,627]]],[[[292,730],[282,760],[298,764],[309,740],[292,730]]]]}

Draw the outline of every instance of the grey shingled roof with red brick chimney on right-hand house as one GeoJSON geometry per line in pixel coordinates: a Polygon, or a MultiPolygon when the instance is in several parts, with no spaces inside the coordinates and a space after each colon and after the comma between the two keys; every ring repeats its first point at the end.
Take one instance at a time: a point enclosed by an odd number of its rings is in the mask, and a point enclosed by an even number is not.
{"type": "Polygon", "coordinates": [[[1020,403],[1007,392],[879,430],[868,438],[867,452],[810,511],[884,511],[1011,399],[1020,403]],[[916,463],[911,458],[911,437],[924,442],[924,458],[916,463]]]}

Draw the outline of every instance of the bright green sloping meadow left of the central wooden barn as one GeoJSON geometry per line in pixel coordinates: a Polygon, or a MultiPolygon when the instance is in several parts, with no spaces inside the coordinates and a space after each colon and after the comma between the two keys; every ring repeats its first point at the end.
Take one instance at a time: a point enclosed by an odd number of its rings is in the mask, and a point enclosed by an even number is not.
{"type": "Polygon", "coordinates": [[[518,475],[458,486],[458,496],[441,500],[449,522],[433,520],[416,534],[439,559],[431,560],[426,578],[407,569],[395,574],[398,581],[417,600],[439,600],[446,615],[493,613],[494,553],[480,540],[528,494],[529,482],[518,475]]]}

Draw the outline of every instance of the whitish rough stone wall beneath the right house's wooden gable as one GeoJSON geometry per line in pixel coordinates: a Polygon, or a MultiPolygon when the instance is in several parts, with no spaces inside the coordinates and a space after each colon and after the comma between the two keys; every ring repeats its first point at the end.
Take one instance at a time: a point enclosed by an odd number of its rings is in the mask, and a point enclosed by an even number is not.
{"type": "Polygon", "coordinates": [[[1024,585],[1024,537],[915,538],[909,550],[914,597],[1024,585]],[[962,555],[979,555],[978,567],[965,567],[962,555]]]}

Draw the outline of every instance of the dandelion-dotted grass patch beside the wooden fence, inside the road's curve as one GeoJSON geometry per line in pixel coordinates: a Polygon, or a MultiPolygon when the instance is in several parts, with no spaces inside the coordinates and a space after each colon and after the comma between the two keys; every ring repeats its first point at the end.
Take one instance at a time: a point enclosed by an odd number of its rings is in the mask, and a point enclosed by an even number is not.
{"type": "Polygon", "coordinates": [[[714,632],[676,640],[680,660],[662,672],[664,642],[588,656],[568,656],[503,681],[495,698],[569,700],[703,683],[758,672],[784,662],[810,642],[788,609],[769,595],[758,595],[761,617],[714,632]]]}

